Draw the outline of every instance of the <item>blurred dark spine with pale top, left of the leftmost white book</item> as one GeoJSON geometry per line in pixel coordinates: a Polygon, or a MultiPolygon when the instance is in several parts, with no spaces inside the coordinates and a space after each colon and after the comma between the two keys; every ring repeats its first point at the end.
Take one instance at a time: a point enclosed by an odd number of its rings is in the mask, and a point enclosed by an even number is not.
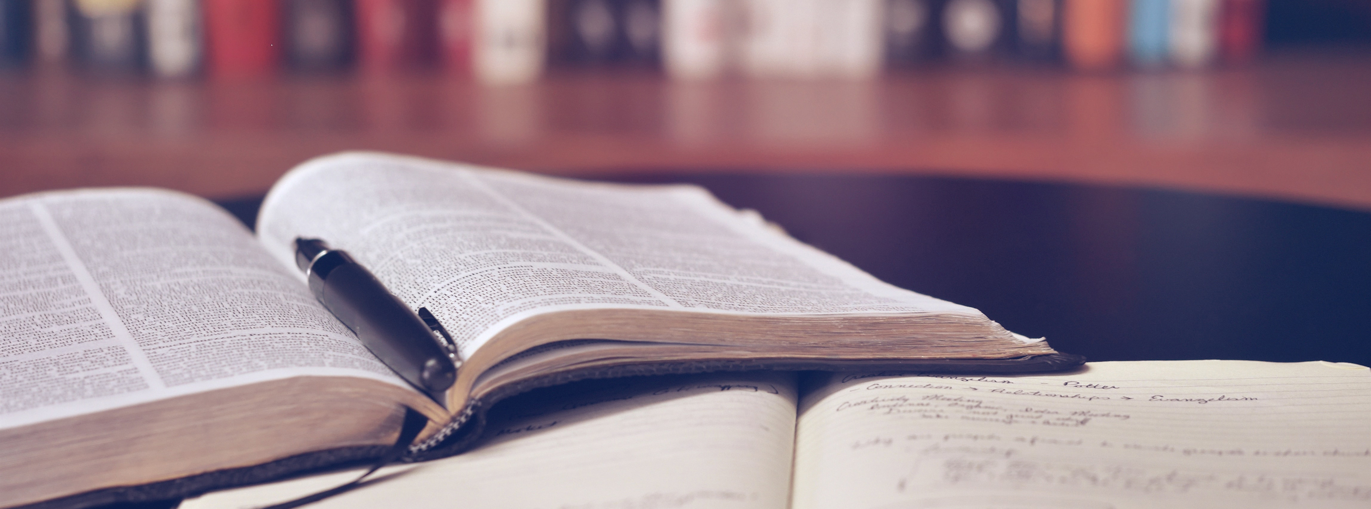
{"type": "Polygon", "coordinates": [[[137,1],[75,0],[69,11],[73,54],[89,69],[134,71],[144,60],[144,18],[137,1]]]}

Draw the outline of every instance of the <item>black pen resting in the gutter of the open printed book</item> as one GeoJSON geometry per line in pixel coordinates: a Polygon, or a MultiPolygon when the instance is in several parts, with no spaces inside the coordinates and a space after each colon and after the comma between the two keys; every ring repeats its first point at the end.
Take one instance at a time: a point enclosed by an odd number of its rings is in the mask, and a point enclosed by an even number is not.
{"type": "Polygon", "coordinates": [[[457,380],[457,346],[426,309],[415,314],[347,251],[295,239],[295,265],[310,291],[362,344],[406,381],[441,394],[457,380]]]}

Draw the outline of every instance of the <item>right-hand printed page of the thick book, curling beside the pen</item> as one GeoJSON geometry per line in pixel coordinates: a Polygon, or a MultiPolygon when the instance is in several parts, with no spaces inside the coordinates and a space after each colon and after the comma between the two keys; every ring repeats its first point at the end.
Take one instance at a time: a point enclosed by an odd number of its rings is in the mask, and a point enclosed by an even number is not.
{"type": "Polygon", "coordinates": [[[463,357],[526,317],[576,309],[984,320],[880,283],[686,185],[351,152],[282,177],[258,232],[287,265],[300,236],[347,250],[402,300],[432,310],[463,357]]]}

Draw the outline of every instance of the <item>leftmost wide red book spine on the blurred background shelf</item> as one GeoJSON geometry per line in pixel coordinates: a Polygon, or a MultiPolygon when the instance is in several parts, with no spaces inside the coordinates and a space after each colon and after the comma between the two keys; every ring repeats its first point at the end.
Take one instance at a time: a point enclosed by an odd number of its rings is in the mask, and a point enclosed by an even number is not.
{"type": "Polygon", "coordinates": [[[280,12],[276,0],[204,0],[210,71],[215,75],[260,75],[280,58],[280,12]]]}

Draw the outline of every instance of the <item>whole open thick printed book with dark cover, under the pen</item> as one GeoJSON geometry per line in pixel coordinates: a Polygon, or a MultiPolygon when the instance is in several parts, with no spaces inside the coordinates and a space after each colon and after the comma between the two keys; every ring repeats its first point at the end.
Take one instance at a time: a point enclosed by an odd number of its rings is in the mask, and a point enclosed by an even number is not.
{"type": "Polygon", "coordinates": [[[254,237],[159,189],[0,202],[0,508],[170,498],[374,458],[402,405],[413,458],[485,409],[577,379],[746,369],[1043,372],[1083,359],[895,288],[684,185],[576,182],[384,154],[307,162],[254,237]],[[347,250],[463,359],[407,386],[295,269],[347,250]]]}

